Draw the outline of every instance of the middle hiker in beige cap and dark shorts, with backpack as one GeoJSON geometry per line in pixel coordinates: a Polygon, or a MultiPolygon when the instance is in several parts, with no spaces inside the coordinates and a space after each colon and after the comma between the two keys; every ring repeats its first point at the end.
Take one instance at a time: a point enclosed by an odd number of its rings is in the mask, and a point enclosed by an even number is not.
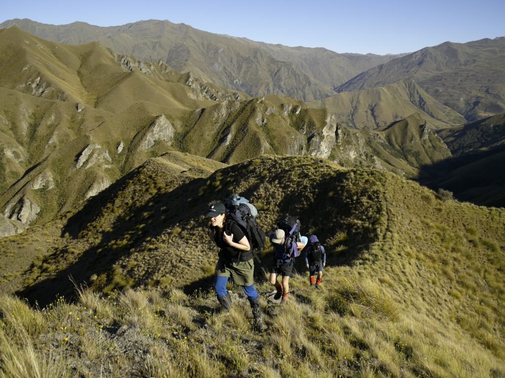
{"type": "Polygon", "coordinates": [[[293,274],[294,259],[300,255],[305,243],[299,237],[300,222],[294,217],[284,217],[277,224],[277,229],[270,234],[270,242],[274,247],[274,261],[270,269],[270,283],[277,293],[274,299],[281,298],[285,303],[289,297],[289,277],[293,274]],[[281,276],[281,282],[277,277],[281,276]]]}

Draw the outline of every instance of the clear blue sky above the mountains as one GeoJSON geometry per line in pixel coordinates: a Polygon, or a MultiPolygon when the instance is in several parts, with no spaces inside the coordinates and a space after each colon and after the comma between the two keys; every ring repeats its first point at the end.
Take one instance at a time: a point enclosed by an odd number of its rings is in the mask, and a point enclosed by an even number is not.
{"type": "Polygon", "coordinates": [[[2,0],[14,18],[117,26],[168,20],[211,33],[339,53],[412,52],[445,41],[505,36],[505,0],[2,0]]]}

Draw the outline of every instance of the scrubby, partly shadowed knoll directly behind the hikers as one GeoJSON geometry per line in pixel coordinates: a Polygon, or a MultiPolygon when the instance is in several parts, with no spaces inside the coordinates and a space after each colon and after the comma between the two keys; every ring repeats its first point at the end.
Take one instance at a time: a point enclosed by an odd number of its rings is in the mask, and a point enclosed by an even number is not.
{"type": "MultiPolygon", "coordinates": [[[[39,305],[71,297],[69,277],[102,292],[208,289],[218,250],[201,214],[232,193],[258,207],[267,233],[284,214],[296,215],[302,234],[315,233],[336,251],[327,266],[351,265],[387,226],[382,181],[382,172],[344,170],[311,157],[262,157],[208,178],[182,177],[149,160],[68,219],[51,253],[28,270],[34,282],[17,295],[39,305]]],[[[267,267],[271,254],[268,246],[260,253],[267,267]]],[[[296,269],[304,272],[298,260],[296,269]]]]}

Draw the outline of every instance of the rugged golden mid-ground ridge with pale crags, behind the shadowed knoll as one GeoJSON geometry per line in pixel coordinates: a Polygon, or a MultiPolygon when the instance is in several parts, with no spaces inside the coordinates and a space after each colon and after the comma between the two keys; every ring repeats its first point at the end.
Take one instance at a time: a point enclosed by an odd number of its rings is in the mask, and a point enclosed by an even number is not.
{"type": "MultiPolygon", "coordinates": [[[[0,59],[0,206],[6,218],[24,226],[44,224],[167,151],[225,163],[263,154],[309,154],[412,176],[419,163],[365,127],[369,114],[375,125],[389,125],[420,109],[423,120],[416,127],[459,120],[414,83],[354,93],[351,103],[374,105],[356,105],[348,116],[342,110],[347,102],[328,100],[327,108],[316,109],[273,95],[250,99],[163,63],[117,55],[97,43],[47,42],[17,27],[0,32],[0,48],[5,51],[0,59]],[[392,114],[395,101],[405,110],[392,114]],[[363,129],[351,131],[348,127],[357,122],[363,129]]],[[[438,161],[440,149],[432,150],[429,159],[438,161]]],[[[10,222],[4,229],[10,231],[3,236],[23,227],[10,222]]]]}

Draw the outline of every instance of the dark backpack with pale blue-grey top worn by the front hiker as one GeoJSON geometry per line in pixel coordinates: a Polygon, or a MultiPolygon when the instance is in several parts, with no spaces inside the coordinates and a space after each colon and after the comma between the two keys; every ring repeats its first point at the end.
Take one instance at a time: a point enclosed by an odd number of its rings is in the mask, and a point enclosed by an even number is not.
{"type": "Polygon", "coordinates": [[[243,231],[245,237],[249,241],[251,248],[261,249],[265,245],[265,231],[263,231],[258,223],[256,216],[258,210],[254,205],[243,197],[236,194],[224,200],[226,208],[226,216],[234,221],[243,231]]]}

